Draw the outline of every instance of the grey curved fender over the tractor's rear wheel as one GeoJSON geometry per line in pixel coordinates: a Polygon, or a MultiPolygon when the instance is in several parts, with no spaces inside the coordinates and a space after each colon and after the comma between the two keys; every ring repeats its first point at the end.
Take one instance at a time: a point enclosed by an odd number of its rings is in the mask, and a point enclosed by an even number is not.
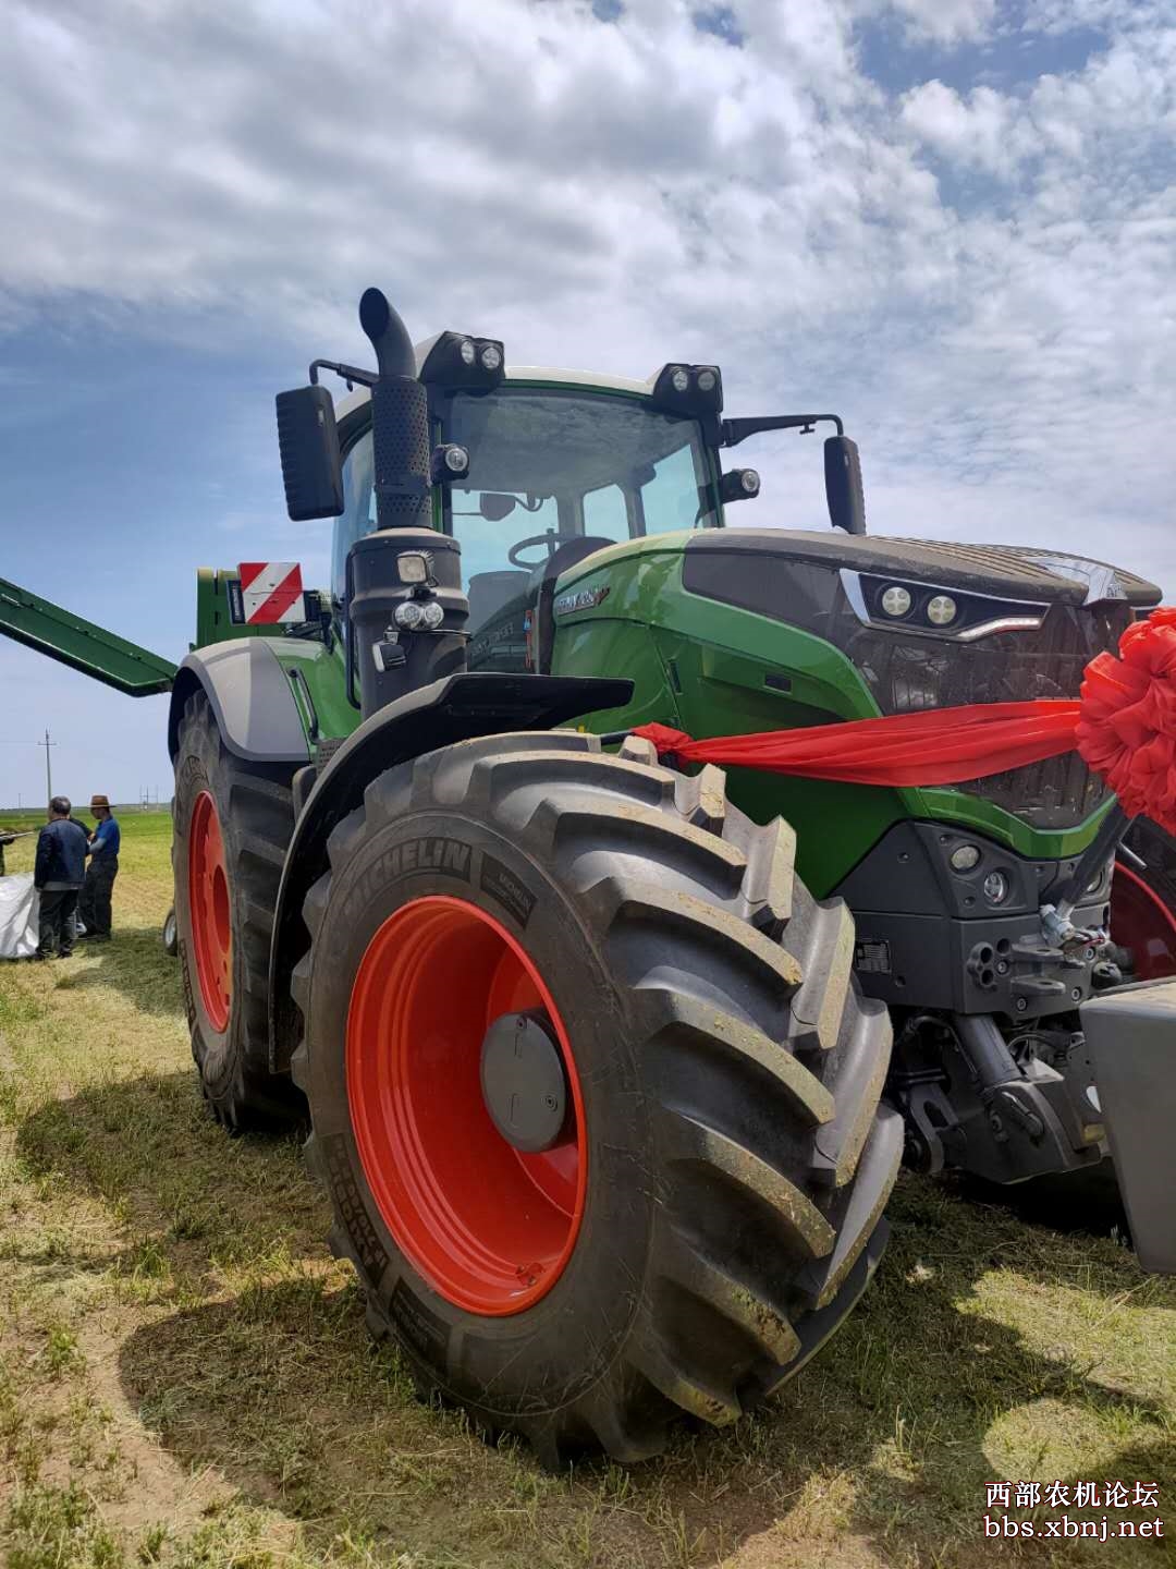
{"type": "MultiPolygon", "coordinates": [[[[299,643],[299,651],[306,645],[299,643]]],[[[310,753],[290,681],[260,637],[213,643],[188,654],[176,672],[168,714],[168,750],[176,761],[180,715],[204,690],[229,752],[246,763],[306,764],[310,753]]]]}

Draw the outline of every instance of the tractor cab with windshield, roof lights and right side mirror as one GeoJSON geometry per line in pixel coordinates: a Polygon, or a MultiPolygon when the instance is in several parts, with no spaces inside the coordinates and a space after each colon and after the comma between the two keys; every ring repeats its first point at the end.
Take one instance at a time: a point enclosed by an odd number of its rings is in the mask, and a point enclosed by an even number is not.
{"type": "MultiPolygon", "coordinates": [[[[856,447],[836,416],[723,419],[717,366],[671,362],[648,381],[506,369],[502,344],[442,333],[412,358],[428,397],[431,524],[461,546],[474,670],[536,670],[535,621],[555,579],[605,546],[721,529],[724,504],[759,493],[754,469],[723,472],[720,449],[760,430],[829,419],[826,491],[834,524],[864,530],[856,447]]],[[[337,369],[331,366],[329,369],[337,369]]],[[[334,596],[347,562],[378,527],[370,392],[339,410],[343,511],[334,596]]]]}

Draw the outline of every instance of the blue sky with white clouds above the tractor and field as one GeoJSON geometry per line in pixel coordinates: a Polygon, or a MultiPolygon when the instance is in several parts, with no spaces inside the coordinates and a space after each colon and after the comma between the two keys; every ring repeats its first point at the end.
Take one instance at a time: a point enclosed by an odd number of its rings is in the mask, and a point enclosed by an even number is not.
{"type": "MultiPolygon", "coordinates": [[[[1176,596],[1173,0],[0,0],[0,576],[180,659],[299,560],[273,395],[414,337],[839,411],[870,532],[1176,596]]],[[[823,527],[762,438],[732,521],[823,527]]],[[[169,794],[166,698],[0,639],[0,805],[169,794]]]]}

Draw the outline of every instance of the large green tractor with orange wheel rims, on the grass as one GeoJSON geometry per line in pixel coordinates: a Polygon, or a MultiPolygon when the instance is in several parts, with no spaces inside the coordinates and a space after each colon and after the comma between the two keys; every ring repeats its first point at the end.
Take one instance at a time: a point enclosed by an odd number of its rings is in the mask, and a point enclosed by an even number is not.
{"type": "MultiPolygon", "coordinates": [[[[204,1095],[230,1130],[309,1108],[372,1329],[547,1462],[635,1461],[836,1329],[903,1155],[1014,1185],[1110,1136],[1140,1252],[1176,1268],[1140,1090],[1176,1007],[1149,984],[1176,973],[1168,841],[1121,846],[1077,756],[881,789],[676,769],[632,734],[1073,697],[1159,590],[866,537],[840,420],[726,419],[715,366],[414,348],[378,290],[361,322],[376,370],[315,361],[278,397],[331,588],[254,626],[243,579],[204,573],[166,679],[204,1095]],[[834,530],[726,527],[759,479],[723,449],[820,422],[834,530]]],[[[86,667],[52,609],[0,592],[0,624],[86,667]]]]}

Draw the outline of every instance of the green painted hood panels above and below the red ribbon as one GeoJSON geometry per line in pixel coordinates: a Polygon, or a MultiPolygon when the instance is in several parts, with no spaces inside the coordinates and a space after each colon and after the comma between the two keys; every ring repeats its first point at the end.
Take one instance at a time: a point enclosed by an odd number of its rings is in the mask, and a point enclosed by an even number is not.
{"type": "MultiPolygon", "coordinates": [[[[593,731],[657,720],[690,736],[751,734],[872,719],[878,711],[853,664],[820,637],[764,615],[687,593],[688,533],[618,544],[560,577],[564,595],[607,593],[557,615],[557,675],[627,676],[626,709],[593,714],[593,731]]],[[[886,830],[903,819],[971,827],[1019,855],[1079,854],[1107,806],[1063,832],[1033,828],[978,795],[955,789],[887,789],[729,769],[731,799],[757,822],[786,817],[797,830],[798,866],[823,897],[886,830]]]]}

